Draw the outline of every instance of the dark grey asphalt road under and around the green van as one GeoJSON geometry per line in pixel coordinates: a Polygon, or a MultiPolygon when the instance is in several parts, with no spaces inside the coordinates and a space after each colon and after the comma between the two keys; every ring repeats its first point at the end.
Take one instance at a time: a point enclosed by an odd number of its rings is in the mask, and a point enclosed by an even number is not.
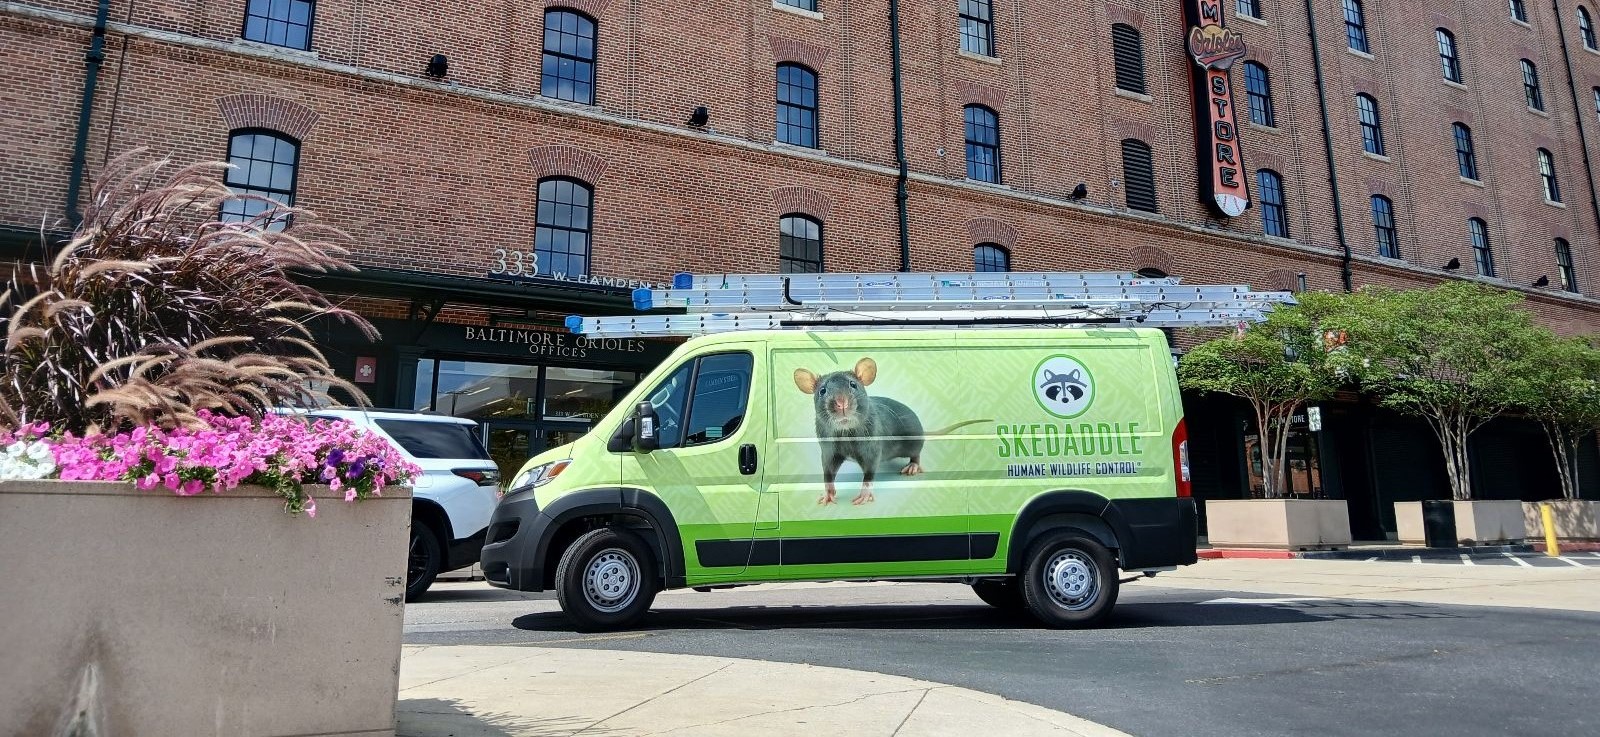
{"type": "Polygon", "coordinates": [[[664,593],[643,628],[608,635],[574,633],[549,595],[451,584],[408,604],[405,638],[870,670],[1149,737],[1600,734],[1600,614],[1154,584],[1125,585],[1112,625],[1088,631],[1037,628],[954,584],[797,584],[664,593]]]}

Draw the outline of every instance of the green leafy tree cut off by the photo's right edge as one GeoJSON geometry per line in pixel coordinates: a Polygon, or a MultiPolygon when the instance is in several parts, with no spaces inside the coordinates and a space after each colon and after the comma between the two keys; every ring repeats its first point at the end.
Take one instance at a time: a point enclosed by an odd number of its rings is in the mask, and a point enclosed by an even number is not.
{"type": "Polygon", "coordinates": [[[1578,499],[1578,443],[1600,425],[1600,350],[1594,339],[1557,337],[1541,331],[1517,404],[1538,419],[1550,441],[1562,496],[1578,499]]]}

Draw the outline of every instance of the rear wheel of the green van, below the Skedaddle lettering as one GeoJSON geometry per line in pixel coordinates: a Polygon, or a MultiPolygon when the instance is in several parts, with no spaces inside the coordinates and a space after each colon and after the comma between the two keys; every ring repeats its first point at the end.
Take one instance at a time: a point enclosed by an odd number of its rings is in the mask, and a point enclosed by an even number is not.
{"type": "Polygon", "coordinates": [[[1082,532],[1042,536],[1027,552],[1022,603],[1053,628],[1098,627],[1117,604],[1117,564],[1110,552],[1082,532]]]}

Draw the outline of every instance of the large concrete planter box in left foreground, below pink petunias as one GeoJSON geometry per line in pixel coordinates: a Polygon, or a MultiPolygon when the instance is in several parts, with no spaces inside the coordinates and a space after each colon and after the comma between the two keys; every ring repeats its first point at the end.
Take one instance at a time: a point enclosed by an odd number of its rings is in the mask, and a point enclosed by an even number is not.
{"type": "Polygon", "coordinates": [[[309,491],[0,483],[0,734],[394,735],[411,494],[309,491]]]}

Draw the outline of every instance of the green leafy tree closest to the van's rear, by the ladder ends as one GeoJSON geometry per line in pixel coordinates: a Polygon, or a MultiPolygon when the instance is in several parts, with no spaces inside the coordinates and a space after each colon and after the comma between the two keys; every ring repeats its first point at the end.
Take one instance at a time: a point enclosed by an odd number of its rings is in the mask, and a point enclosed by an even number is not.
{"type": "Polygon", "coordinates": [[[1290,420],[1307,401],[1331,395],[1339,380],[1322,345],[1320,323],[1341,307],[1331,294],[1301,294],[1243,333],[1218,337],[1184,353],[1178,379],[1194,392],[1218,392],[1250,403],[1261,430],[1267,499],[1286,492],[1285,457],[1290,420]]]}

